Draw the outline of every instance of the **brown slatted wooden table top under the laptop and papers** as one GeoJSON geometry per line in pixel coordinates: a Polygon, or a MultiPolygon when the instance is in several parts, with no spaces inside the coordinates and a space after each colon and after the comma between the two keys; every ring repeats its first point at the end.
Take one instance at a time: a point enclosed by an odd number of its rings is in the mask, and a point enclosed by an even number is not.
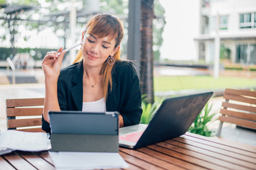
{"type": "MultiPolygon", "coordinates": [[[[256,147],[186,133],[137,150],[119,149],[128,169],[256,169],[256,147]]],[[[55,169],[48,152],[13,152],[0,169],[55,169]]]]}

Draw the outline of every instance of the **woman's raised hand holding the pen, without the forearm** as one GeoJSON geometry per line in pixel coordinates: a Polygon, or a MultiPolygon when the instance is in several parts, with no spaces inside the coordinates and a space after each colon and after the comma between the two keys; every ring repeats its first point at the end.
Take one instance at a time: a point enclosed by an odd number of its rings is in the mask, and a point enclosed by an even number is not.
{"type": "Polygon", "coordinates": [[[60,75],[60,67],[63,62],[63,57],[65,55],[65,50],[60,47],[58,52],[47,52],[46,56],[43,58],[42,66],[43,73],[46,78],[53,78],[58,80],[60,75]],[[60,52],[60,55],[58,53],[60,52]]]}

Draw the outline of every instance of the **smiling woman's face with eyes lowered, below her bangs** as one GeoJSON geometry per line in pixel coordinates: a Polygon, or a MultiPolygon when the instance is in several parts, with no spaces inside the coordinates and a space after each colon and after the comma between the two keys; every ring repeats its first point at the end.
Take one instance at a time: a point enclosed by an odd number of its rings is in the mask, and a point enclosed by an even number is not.
{"type": "Polygon", "coordinates": [[[95,35],[85,34],[82,40],[82,57],[88,67],[102,67],[102,64],[119,46],[114,48],[116,41],[111,36],[97,38],[95,35]]]}

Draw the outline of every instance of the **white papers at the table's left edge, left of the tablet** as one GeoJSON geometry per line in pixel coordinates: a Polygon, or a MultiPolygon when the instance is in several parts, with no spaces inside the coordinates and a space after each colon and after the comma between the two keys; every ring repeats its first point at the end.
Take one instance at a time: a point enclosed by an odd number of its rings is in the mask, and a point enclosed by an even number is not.
{"type": "Polygon", "coordinates": [[[50,140],[45,132],[7,130],[0,134],[0,148],[31,152],[43,151],[50,149],[50,140]]]}

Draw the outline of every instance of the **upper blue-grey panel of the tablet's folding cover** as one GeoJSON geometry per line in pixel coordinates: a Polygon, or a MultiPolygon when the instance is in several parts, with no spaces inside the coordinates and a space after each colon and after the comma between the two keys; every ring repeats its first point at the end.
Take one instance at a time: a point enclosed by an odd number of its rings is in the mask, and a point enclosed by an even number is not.
{"type": "Polygon", "coordinates": [[[118,135],[118,112],[50,111],[52,134],[118,135]]]}

